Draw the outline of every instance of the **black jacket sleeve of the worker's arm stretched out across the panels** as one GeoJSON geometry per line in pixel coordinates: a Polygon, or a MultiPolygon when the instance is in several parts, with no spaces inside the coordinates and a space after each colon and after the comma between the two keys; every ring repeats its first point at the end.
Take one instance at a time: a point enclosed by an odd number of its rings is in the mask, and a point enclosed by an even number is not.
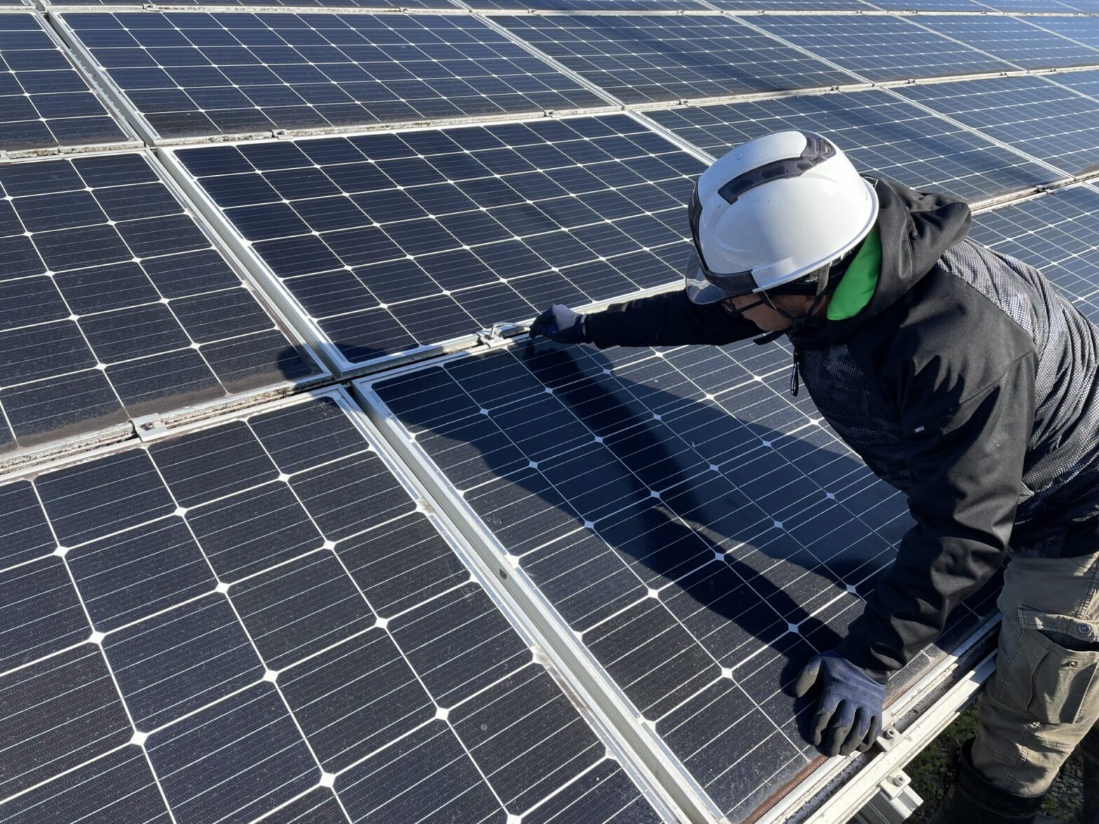
{"type": "Polygon", "coordinates": [[[685,290],[615,303],[585,321],[599,348],[728,344],[761,334],[759,327],[731,315],[720,303],[692,303],[685,290]]]}

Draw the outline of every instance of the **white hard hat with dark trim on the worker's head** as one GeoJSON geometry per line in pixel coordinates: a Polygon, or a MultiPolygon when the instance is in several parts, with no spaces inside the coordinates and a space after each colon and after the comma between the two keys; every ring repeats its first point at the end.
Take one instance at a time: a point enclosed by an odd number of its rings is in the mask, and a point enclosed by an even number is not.
{"type": "Polygon", "coordinates": [[[826,137],[773,132],[703,171],[689,215],[687,293],[712,303],[791,283],[842,258],[873,229],[878,197],[826,137]]]}

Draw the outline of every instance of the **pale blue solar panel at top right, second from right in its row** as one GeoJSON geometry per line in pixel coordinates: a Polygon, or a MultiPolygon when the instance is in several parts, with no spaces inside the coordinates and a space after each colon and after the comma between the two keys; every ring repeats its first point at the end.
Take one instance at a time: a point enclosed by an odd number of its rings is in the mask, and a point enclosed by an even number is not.
{"type": "Polygon", "coordinates": [[[1022,68],[1099,65],[1099,49],[1031,25],[1045,18],[923,15],[919,23],[1022,68]]]}

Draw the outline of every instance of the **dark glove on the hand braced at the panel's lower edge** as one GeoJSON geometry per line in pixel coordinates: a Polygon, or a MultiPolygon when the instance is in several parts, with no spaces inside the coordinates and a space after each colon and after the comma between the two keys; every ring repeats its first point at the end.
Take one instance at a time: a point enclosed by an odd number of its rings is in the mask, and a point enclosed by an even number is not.
{"type": "Polygon", "coordinates": [[[798,676],[793,694],[801,698],[818,682],[813,745],[826,756],[865,753],[881,728],[886,688],[835,652],[813,656],[798,676]]]}

